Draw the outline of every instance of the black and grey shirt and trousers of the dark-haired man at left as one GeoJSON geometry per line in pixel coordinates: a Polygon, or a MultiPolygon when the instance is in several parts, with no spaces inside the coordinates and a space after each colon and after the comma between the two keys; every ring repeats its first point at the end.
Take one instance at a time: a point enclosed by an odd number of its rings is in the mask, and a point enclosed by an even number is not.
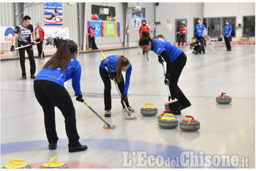
{"type": "MultiPolygon", "coordinates": [[[[18,47],[31,44],[31,33],[33,31],[34,31],[34,29],[33,29],[32,25],[28,25],[27,27],[24,27],[21,24],[15,28],[14,33],[18,34],[18,36],[19,36],[18,47]]],[[[27,52],[27,54],[29,56],[30,74],[34,75],[35,74],[35,59],[34,59],[33,47],[31,45],[31,46],[19,49],[22,76],[26,76],[25,51],[27,52]]]]}

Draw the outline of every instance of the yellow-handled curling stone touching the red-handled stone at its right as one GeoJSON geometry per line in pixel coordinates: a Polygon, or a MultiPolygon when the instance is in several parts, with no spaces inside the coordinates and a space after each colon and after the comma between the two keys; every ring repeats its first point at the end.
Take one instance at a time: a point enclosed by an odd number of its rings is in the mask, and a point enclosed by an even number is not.
{"type": "Polygon", "coordinates": [[[176,128],[179,125],[178,119],[173,117],[172,113],[165,113],[164,116],[159,119],[158,125],[161,128],[176,128]]]}

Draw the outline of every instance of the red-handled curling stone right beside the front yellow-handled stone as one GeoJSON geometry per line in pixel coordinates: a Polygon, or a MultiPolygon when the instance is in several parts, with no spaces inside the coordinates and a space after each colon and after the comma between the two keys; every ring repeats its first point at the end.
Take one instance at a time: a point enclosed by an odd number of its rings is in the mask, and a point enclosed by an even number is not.
{"type": "Polygon", "coordinates": [[[194,119],[193,116],[186,115],[186,117],[191,117],[191,119],[183,119],[179,122],[179,128],[183,131],[196,131],[200,129],[200,122],[194,119]]]}

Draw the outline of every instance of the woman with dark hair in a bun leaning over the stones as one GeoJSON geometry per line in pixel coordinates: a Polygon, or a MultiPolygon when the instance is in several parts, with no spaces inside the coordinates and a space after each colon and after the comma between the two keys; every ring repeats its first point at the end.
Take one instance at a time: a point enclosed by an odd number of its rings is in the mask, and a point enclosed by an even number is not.
{"type": "Polygon", "coordinates": [[[148,31],[142,32],[142,37],[139,39],[139,46],[144,51],[149,52],[152,50],[155,52],[158,55],[160,64],[164,61],[166,62],[164,84],[169,86],[171,97],[178,100],[175,103],[169,104],[170,113],[180,115],[182,109],[191,105],[178,86],[179,76],[187,62],[187,56],[181,49],[166,39],[156,38],[152,40],[148,31]]]}

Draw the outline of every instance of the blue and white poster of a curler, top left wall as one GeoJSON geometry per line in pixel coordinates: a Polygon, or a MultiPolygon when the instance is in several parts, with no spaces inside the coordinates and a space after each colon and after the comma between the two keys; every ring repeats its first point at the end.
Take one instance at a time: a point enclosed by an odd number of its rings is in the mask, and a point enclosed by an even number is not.
{"type": "Polygon", "coordinates": [[[44,25],[62,25],[61,2],[44,2],[44,25]]]}

